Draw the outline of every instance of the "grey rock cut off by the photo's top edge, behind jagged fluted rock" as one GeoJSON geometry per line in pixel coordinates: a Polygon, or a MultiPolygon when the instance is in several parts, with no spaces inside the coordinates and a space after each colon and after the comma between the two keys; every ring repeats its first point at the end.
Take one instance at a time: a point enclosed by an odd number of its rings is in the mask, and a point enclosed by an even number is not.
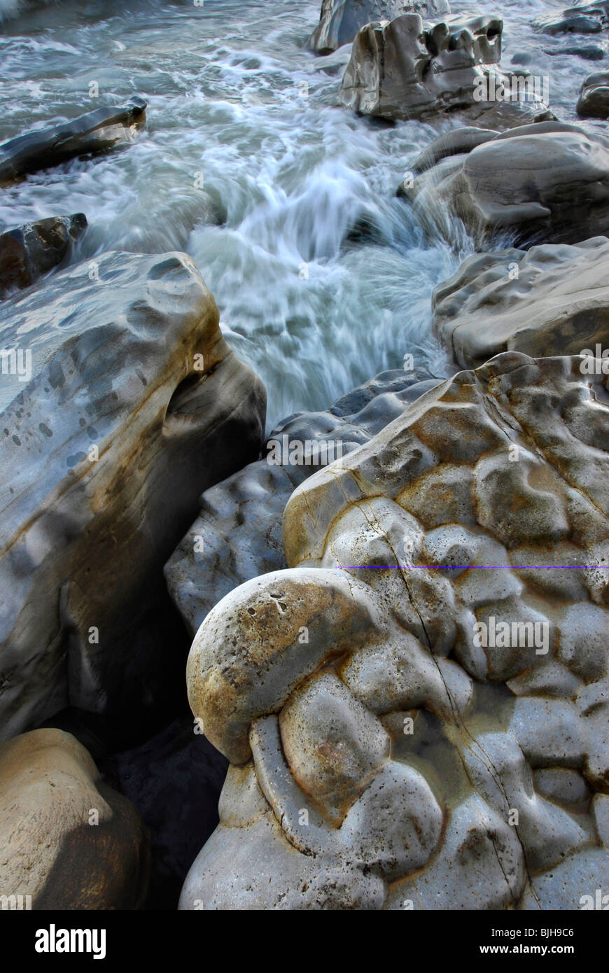
{"type": "Polygon", "coordinates": [[[360,27],[372,20],[449,12],[448,0],[322,0],[319,23],[308,39],[308,47],[318,54],[330,54],[349,44],[360,27]]]}

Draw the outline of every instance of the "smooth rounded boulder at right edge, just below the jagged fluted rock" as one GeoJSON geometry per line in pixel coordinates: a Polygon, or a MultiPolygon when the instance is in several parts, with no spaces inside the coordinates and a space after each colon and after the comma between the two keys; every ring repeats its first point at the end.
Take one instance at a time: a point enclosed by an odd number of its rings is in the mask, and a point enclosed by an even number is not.
{"type": "Polygon", "coordinates": [[[609,234],[609,139],[541,122],[497,133],[455,155],[442,135],[415,160],[398,194],[415,205],[428,232],[450,242],[461,221],[480,249],[493,242],[579,243],[609,234]],[[427,167],[430,159],[435,164],[427,167]],[[425,166],[425,168],[424,168],[425,166]]]}

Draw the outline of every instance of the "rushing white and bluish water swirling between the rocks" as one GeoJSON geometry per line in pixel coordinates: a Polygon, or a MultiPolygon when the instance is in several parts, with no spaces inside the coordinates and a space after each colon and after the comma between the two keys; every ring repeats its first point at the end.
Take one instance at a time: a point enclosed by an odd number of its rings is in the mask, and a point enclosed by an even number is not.
{"type": "MultiPolygon", "coordinates": [[[[223,331],[264,379],[269,422],[325,408],[405,352],[449,368],[430,332],[431,291],[467,252],[426,241],[395,190],[409,162],[457,121],[386,126],[357,118],[337,92],[349,46],[318,57],[305,41],[310,0],[0,0],[0,140],[132,93],[148,100],[137,143],[73,161],[0,191],[0,229],[83,211],[73,259],[106,249],[186,250],[221,311],[223,331]],[[18,7],[22,10],[15,15],[18,7]],[[96,82],[97,98],[90,97],[96,82]],[[203,220],[207,197],[226,211],[203,220]],[[361,218],[379,230],[349,243],[361,218]]],[[[502,66],[534,54],[551,107],[575,119],[582,79],[602,62],[551,56],[597,38],[540,38],[530,22],[568,4],[475,5],[505,19],[502,66]]],[[[453,11],[474,5],[453,3],[453,11]]]]}

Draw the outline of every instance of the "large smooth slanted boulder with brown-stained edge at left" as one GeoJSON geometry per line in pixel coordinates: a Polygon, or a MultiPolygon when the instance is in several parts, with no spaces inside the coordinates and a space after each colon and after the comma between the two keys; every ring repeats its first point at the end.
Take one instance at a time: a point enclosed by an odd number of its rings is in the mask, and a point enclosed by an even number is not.
{"type": "Polygon", "coordinates": [[[162,565],[200,492],[259,455],[265,392],[185,254],[62,270],[0,333],[2,734],[76,707],[125,748],[183,699],[162,565]]]}

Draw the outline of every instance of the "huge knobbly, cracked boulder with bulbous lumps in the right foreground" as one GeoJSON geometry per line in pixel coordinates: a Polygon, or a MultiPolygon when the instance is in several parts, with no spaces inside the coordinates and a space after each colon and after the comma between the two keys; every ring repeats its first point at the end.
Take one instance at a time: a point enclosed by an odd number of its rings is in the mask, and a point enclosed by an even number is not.
{"type": "Polygon", "coordinates": [[[606,885],[609,377],[581,364],[499,355],[296,488],[290,566],[191,649],[232,766],[181,909],[577,909],[606,885]]]}

